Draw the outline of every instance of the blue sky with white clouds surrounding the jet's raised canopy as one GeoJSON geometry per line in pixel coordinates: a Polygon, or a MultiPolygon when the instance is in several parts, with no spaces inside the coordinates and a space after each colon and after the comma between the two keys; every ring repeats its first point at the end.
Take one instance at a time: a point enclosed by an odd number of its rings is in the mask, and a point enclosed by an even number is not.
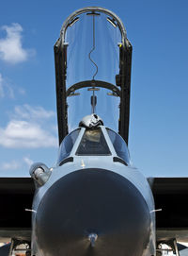
{"type": "Polygon", "coordinates": [[[75,9],[111,9],[133,44],[132,161],[147,177],[188,175],[188,2],[2,1],[0,175],[57,158],[55,41],[75,9]]]}

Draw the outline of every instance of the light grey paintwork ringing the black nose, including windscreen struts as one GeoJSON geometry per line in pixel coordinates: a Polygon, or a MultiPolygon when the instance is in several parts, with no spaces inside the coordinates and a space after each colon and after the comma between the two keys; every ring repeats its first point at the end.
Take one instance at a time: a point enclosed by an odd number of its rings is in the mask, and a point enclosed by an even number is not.
{"type": "Polygon", "coordinates": [[[117,173],[125,179],[128,179],[133,183],[133,185],[139,190],[140,194],[144,197],[145,201],[147,202],[150,218],[151,218],[151,226],[150,226],[150,238],[149,238],[149,245],[144,252],[143,256],[150,256],[154,255],[155,251],[155,208],[154,208],[154,201],[153,196],[149,187],[148,180],[133,166],[125,166],[120,162],[113,162],[113,157],[117,156],[117,153],[112,145],[110,138],[107,134],[105,127],[101,127],[105,140],[110,148],[112,153],[111,156],[76,156],[75,152],[78,145],[81,142],[82,136],[85,132],[86,128],[81,128],[80,134],[72,147],[70,157],[73,157],[74,162],[67,162],[62,166],[55,166],[51,169],[52,174],[48,181],[41,187],[39,187],[34,203],[33,203],[33,233],[32,233],[32,248],[33,248],[33,255],[41,256],[39,252],[39,247],[37,244],[36,233],[35,233],[35,223],[36,223],[36,214],[38,213],[39,203],[45,193],[49,190],[50,187],[55,184],[55,182],[62,177],[75,172],[80,169],[86,168],[101,168],[102,166],[104,169],[107,169],[111,172],[117,173]]]}

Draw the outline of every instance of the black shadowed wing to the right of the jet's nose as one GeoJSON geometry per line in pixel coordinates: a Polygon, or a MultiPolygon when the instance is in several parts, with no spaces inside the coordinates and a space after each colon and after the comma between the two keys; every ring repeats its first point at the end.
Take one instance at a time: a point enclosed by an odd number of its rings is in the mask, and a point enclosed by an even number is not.
{"type": "Polygon", "coordinates": [[[188,178],[149,178],[155,200],[157,241],[188,242],[188,178]]]}

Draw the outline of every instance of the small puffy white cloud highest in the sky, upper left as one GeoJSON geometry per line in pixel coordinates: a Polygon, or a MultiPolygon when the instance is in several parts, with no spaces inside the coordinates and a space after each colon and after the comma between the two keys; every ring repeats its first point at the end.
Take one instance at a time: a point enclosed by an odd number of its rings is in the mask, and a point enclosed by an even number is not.
{"type": "Polygon", "coordinates": [[[11,26],[2,26],[7,36],[0,39],[0,59],[8,63],[18,63],[28,59],[34,50],[24,49],[22,43],[23,27],[17,23],[11,26]]]}

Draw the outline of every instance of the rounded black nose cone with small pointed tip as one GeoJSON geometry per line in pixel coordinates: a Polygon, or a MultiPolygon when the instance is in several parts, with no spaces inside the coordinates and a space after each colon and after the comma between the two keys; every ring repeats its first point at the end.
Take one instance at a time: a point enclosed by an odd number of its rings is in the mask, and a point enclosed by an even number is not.
{"type": "Polygon", "coordinates": [[[141,256],[149,243],[148,206],[133,184],[103,169],[59,179],[43,196],[36,235],[43,255],[141,256]]]}

